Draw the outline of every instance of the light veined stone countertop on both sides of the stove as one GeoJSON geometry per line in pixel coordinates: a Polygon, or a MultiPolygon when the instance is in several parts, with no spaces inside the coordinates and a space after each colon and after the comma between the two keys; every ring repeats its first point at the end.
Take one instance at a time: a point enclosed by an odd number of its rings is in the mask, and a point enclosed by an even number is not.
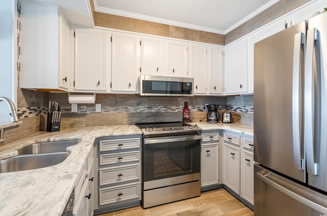
{"type": "MultiPolygon", "coordinates": [[[[253,126],[243,123],[192,122],[203,130],[226,129],[253,136],[253,126]]],[[[71,154],[62,163],[35,170],[0,174],[0,215],[61,215],[92,144],[98,137],[142,134],[135,125],[72,127],[60,132],[36,132],[0,147],[0,159],[17,155],[17,150],[38,142],[81,140],[68,147],[71,154]]]]}

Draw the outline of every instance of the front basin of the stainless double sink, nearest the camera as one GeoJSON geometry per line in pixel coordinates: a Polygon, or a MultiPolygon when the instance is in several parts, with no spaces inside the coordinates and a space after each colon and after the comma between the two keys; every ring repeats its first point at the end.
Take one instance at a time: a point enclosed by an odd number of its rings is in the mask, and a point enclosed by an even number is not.
{"type": "Polygon", "coordinates": [[[34,170],[60,164],[69,152],[17,155],[0,160],[0,173],[34,170]]]}

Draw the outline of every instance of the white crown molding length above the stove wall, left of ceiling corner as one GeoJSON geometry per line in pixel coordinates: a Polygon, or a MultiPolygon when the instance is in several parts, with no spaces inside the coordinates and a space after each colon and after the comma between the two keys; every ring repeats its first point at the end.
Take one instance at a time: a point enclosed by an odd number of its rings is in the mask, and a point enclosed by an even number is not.
{"type": "Polygon", "coordinates": [[[172,20],[168,20],[168,19],[161,19],[161,18],[156,18],[156,17],[152,17],[152,16],[146,16],[146,15],[142,15],[142,14],[121,11],[121,10],[99,7],[99,6],[97,6],[96,3],[95,3],[95,11],[101,12],[101,13],[117,15],[117,16],[125,16],[125,17],[129,17],[129,18],[134,18],[134,19],[142,19],[142,20],[146,20],[146,21],[157,22],[157,23],[162,23],[162,24],[167,24],[167,25],[175,25],[175,26],[179,26],[182,28],[194,29],[194,30],[205,31],[205,32],[212,32],[212,33],[217,33],[217,34],[224,34],[223,30],[212,29],[212,28],[207,28],[204,26],[193,25],[193,24],[188,24],[188,23],[184,23],[184,22],[177,22],[177,21],[172,21],[172,20]]]}

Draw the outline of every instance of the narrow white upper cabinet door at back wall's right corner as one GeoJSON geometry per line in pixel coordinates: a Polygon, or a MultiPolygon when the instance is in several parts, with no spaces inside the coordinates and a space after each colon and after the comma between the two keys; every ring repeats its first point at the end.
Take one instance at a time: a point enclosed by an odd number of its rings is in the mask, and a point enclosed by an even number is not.
{"type": "Polygon", "coordinates": [[[209,48],[209,94],[223,93],[223,52],[222,49],[209,48]]]}

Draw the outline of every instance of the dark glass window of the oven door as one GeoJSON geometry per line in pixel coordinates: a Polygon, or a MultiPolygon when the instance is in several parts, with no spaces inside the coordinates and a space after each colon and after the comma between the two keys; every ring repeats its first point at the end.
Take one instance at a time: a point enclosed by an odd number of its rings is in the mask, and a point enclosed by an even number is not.
{"type": "Polygon", "coordinates": [[[200,140],[144,145],[144,181],[200,172],[200,140]]]}

